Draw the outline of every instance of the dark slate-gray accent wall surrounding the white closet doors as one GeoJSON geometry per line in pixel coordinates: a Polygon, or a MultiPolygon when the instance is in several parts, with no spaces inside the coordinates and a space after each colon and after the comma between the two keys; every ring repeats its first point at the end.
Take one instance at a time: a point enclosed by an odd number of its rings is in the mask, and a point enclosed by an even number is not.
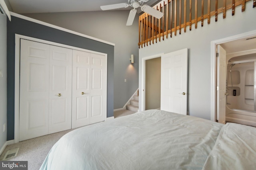
{"type": "Polygon", "coordinates": [[[46,41],[106,53],[108,55],[107,117],[112,117],[114,115],[113,45],[12,16],[12,21],[7,21],[7,140],[14,139],[15,34],[26,35],[46,41]]]}

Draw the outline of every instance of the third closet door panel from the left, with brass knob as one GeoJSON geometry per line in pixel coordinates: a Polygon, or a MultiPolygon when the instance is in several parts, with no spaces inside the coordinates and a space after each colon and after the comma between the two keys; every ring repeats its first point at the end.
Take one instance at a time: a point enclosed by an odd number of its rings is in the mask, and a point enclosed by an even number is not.
{"type": "Polygon", "coordinates": [[[90,57],[73,50],[72,129],[90,124],[90,57]]]}

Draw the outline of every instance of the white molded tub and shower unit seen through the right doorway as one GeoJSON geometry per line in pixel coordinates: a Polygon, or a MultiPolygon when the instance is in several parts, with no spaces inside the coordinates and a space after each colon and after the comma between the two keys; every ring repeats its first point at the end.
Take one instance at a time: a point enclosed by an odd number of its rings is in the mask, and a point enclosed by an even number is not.
{"type": "Polygon", "coordinates": [[[254,79],[254,62],[228,64],[226,122],[256,127],[254,79]]]}

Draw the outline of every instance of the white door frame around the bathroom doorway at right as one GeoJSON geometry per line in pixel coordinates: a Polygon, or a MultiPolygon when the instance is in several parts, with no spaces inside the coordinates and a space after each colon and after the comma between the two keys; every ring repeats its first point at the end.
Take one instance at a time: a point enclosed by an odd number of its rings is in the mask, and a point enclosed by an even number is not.
{"type": "Polygon", "coordinates": [[[216,50],[217,45],[256,35],[256,30],[211,41],[211,121],[216,121],[216,50]]]}

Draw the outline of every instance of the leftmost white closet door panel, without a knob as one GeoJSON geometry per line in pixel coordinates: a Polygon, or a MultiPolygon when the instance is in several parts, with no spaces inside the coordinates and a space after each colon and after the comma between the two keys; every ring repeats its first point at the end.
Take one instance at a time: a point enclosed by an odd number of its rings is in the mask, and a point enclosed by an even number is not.
{"type": "Polygon", "coordinates": [[[21,39],[20,141],[48,134],[49,47],[21,39]]]}

